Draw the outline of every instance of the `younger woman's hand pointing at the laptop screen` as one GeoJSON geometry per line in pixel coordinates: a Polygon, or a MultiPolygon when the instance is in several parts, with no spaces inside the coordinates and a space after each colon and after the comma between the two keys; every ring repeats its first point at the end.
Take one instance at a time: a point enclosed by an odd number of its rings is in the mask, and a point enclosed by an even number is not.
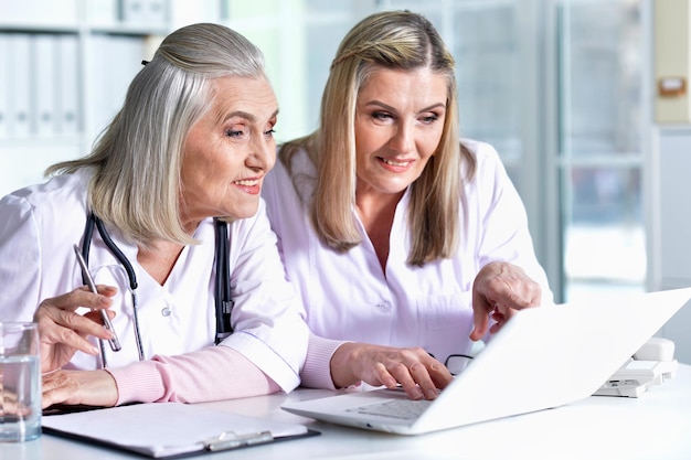
{"type": "Polygon", "coordinates": [[[515,310],[540,304],[542,288],[520,267],[509,263],[491,263],[482,267],[472,285],[474,329],[470,340],[482,339],[489,318],[496,321],[489,329],[496,333],[515,310]]]}

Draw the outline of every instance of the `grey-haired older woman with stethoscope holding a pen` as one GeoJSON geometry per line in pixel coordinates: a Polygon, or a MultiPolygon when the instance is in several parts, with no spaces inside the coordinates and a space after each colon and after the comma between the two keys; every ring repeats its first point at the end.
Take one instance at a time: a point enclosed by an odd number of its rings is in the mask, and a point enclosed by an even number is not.
{"type": "Polygon", "coordinates": [[[277,114],[258,49],[189,25],[134,78],[89,156],[0,202],[0,318],[39,322],[44,406],[299,384],[308,331],[259,199],[277,114]],[[81,287],[75,244],[98,293],[81,287]],[[120,351],[88,309],[107,309],[120,351]]]}

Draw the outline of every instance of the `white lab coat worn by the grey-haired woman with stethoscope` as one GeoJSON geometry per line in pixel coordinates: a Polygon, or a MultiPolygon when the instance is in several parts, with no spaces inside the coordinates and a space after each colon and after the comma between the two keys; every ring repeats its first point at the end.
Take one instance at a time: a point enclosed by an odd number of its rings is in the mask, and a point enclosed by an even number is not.
{"type": "MultiPolygon", "coordinates": [[[[59,175],[19,190],[0,201],[0,319],[30,321],[39,303],[82,286],[73,245],[82,245],[86,223],[85,172],[59,175]]],[[[257,215],[228,226],[232,323],[235,333],[222,345],[254,362],[284,391],[299,384],[308,330],[298,313],[262,202],[257,215]]],[[[163,286],[137,263],[137,247],[117,229],[109,234],[127,256],[138,279],[138,314],[147,359],[178,355],[213,344],[214,228],[203,221],[163,286]]],[[[109,366],[137,361],[132,302],[123,266],[94,228],[88,266],[96,284],[118,288],[114,328],[123,344],[106,344],[109,366]]],[[[95,343],[95,342],[94,342],[95,343]]],[[[98,356],[77,353],[68,367],[96,368],[98,356]]]]}

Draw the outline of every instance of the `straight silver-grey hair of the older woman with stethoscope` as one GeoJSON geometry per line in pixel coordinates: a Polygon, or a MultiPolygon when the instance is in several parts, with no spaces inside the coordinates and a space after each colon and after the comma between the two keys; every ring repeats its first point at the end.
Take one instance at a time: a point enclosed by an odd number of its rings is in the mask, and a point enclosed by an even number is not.
{"type": "Polygon", "coordinates": [[[92,169],[91,210],[142,246],[195,243],[180,221],[182,154],[190,129],[211,106],[213,79],[224,76],[265,78],[259,49],[217,24],[172,32],[130,83],[92,153],[53,164],[46,175],[92,169]]]}

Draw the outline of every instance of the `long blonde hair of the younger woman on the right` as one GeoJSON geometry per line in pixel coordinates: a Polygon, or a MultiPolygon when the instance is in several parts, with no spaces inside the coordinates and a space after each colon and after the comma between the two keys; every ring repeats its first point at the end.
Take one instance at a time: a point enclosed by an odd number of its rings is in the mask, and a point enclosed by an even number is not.
{"type": "Polygon", "coordinates": [[[286,143],[280,160],[289,167],[307,150],[317,168],[310,216],[321,240],[346,253],[361,243],[352,217],[355,200],[355,104],[372,69],[430,68],[447,79],[446,117],[439,145],[421,176],[411,185],[407,263],[423,266],[449,257],[458,245],[461,162],[469,176],[475,158],[459,143],[454,58],[436,29],[423,15],[385,11],[360,21],[341,42],[321,99],[319,128],[286,143]]]}

